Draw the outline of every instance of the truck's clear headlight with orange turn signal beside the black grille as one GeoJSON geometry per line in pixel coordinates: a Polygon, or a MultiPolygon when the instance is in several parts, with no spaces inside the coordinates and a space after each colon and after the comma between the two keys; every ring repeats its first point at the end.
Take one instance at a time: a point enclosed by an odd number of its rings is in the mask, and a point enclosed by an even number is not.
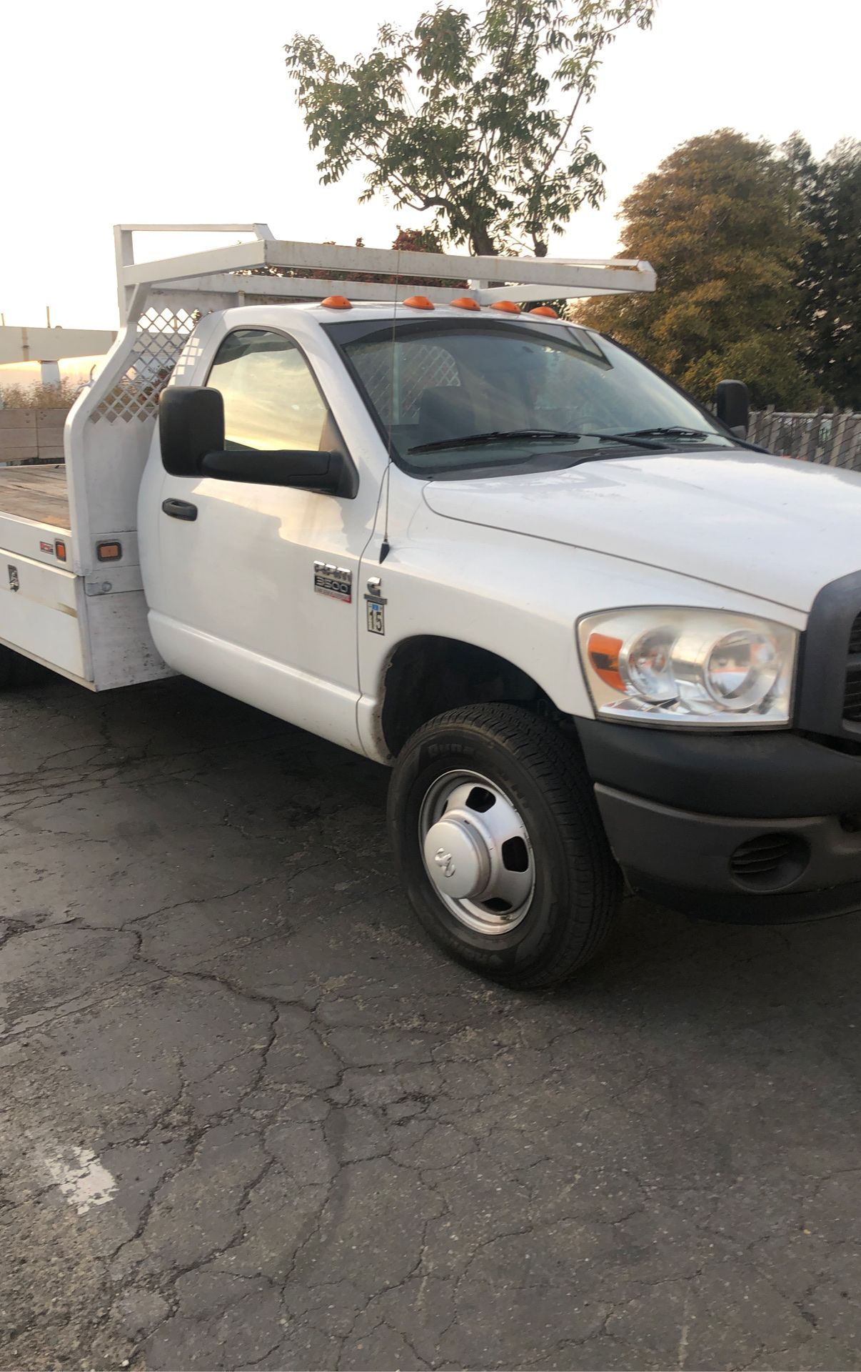
{"type": "Polygon", "coordinates": [[[617,609],[577,626],[605,719],[735,727],[790,722],[798,635],[717,609],[617,609]]]}

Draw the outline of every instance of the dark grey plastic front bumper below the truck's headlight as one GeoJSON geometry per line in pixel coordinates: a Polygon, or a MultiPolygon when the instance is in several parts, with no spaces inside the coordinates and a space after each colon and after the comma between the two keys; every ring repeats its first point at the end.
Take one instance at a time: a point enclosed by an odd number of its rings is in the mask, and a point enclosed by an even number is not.
{"type": "Polygon", "coordinates": [[[757,923],[861,908],[861,756],[790,733],[579,731],[635,890],[757,923]]]}

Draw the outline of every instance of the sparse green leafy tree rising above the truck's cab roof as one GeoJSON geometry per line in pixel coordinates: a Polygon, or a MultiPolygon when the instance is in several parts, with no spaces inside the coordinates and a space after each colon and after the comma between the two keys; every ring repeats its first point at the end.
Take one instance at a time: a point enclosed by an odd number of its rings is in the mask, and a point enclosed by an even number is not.
{"type": "Polygon", "coordinates": [[[388,193],[430,211],[441,240],[489,255],[526,241],[547,254],[583,204],[603,199],[605,165],[581,115],[607,47],[647,29],[655,0],[488,0],[480,21],[437,4],[410,32],[339,62],[296,34],[296,84],[324,185],[363,165],[362,200],[388,193]]]}

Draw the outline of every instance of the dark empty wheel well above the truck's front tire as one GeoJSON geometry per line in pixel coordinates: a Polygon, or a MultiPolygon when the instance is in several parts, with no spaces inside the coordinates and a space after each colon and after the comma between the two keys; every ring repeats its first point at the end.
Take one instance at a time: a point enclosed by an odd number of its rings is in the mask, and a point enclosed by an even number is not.
{"type": "Polygon", "coordinates": [[[554,711],[542,687],[505,657],[452,638],[410,638],[395,649],[383,697],[383,737],[392,756],[424,723],[458,705],[489,701],[554,711]]]}

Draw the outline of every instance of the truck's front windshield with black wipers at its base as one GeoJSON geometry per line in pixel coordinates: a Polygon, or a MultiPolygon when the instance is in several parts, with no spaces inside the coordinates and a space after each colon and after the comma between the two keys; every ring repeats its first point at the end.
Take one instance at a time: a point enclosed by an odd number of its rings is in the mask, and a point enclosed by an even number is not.
{"type": "Polygon", "coordinates": [[[328,332],[392,456],[415,475],[733,445],[624,348],[573,325],[366,321],[328,332]]]}

